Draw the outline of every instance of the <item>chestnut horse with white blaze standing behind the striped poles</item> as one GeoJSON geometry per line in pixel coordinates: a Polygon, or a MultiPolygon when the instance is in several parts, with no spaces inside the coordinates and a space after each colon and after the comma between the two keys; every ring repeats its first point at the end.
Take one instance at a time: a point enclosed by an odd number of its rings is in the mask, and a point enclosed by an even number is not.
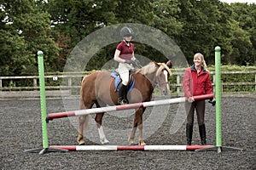
{"type": "MultiPolygon", "coordinates": [[[[147,102],[152,99],[154,88],[158,85],[163,95],[169,94],[169,77],[172,75],[170,70],[171,61],[166,63],[149,62],[133,73],[135,79],[134,88],[128,93],[129,103],[147,102]]],[[[114,87],[114,80],[109,71],[95,71],[90,75],[84,76],[80,88],[79,109],[90,109],[93,105],[104,107],[107,105],[118,105],[118,92],[114,87]]],[[[137,128],[138,144],[145,145],[143,140],[143,112],[145,107],[135,109],[133,127],[128,142],[136,144],[134,136],[137,128]]],[[[108,144],[102,127],[103,113],[97,113],[95,116],[96,126],[102,144],[108,144]]],[[[79,145],[84,144],[84,132],[88,130],[90,124],[90,115],[79,116],[79,145]]]]}

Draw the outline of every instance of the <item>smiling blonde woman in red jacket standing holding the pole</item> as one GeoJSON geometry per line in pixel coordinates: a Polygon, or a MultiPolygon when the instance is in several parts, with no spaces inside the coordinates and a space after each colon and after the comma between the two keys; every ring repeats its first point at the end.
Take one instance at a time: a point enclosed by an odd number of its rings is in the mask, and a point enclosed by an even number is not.
{"type": "Polygon", "coordinates": [[[207,64],[204,56],[200,53],[195,54],[194,65],[189,67],[184,72],[183,90],[185,97],[188,99],[188,102],[185,103],[185,110],[188,115],[186,125],[187,144],[191,145],[192,142],[195,111],[197,115],[201,144],[207,144],[207,134],[204,120],[206,103],[205,100],[195,101],[193,98],[193,96],[196,95],[213,93],[210,74],[207,71],[207,64]]]}

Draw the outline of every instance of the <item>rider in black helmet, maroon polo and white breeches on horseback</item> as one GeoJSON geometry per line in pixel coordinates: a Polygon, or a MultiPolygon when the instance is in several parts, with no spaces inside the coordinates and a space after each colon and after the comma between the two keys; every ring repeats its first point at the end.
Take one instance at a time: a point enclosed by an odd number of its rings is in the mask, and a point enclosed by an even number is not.
{"type": "Polygon", "coordinates": [[[131,43],[133,31],[131,28],[126,26],[123,27],[120,31],[120,35],[123,37],[123,41],[117,46],[113,59],[119,62],[118,71],[122,79],[122,86],[119,88],[118,104],[125,105],[128,103],[128,100],[126,99],[126,86],[129,82],[129,71],[134,70],[131,61],[139,62],[134,57],[134,46],[133,43],[131,43]]]}

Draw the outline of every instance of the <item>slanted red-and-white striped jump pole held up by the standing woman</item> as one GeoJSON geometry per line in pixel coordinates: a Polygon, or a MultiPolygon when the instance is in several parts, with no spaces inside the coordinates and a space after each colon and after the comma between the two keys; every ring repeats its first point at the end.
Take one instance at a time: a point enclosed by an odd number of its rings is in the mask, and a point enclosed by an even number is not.
{"type": "MultiPolygon", "coordinates": [[[[195,100],[212,99],[213,95],[214,94],[204,94],[204,95],[194,96],[194,99],[195,100]]],[[[86,109],[86,110],[51,113],[51,114],[48,114],[47,121],[53,120],[56,118],[61,118],[61,117],[90,115],[90,114],[102,113],[102,112],[108,112],[108,111],[124,111],[124,110],[137,109],[142,107],[152,107],[157,105],[177,104],[177,103],[183,103],[185,101],[186,101],[186,98],[182,97],[182,98],[175,98],[175,99],[162,99],[162,100],[148,101],[148,102],[128,104],[128,105],[113,105],[108,107],[100,107],[100,108],[93,108],[93,109],[86,109]]]]}

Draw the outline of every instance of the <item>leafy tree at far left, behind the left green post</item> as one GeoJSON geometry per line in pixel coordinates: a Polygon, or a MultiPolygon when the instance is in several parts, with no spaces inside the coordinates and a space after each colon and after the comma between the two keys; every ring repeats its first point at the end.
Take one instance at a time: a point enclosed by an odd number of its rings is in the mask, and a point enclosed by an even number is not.
{"type": "Polygon", "coordinates": [[[1,75],[37,73],[36,54],[44,51],[46,70],[54,71],[58,48],[49,37],[49,14],[33,0],[1,2],[1,75]]]}

